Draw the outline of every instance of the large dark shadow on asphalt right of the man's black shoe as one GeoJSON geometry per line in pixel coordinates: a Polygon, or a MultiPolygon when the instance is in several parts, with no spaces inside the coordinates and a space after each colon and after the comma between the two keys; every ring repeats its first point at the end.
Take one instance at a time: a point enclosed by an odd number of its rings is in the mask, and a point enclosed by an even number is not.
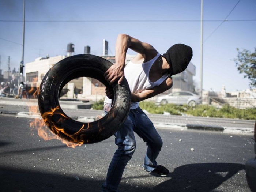
{"type": "Polygon", "coordinates": [[[182,165],[169,173],[170,180],[155,186],[153,191],[210,192],[243,169],[244,165],[236,163],[182,165]]]}

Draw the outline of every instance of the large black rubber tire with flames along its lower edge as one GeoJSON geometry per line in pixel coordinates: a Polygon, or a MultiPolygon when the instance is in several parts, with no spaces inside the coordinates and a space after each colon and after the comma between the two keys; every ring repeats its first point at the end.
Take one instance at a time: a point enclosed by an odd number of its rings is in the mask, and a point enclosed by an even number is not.
{"type": "Polygon", "coordinates": [[[131,92],[126,79],[120,85],[115,82],[109,86],[103,74],[111,65],[102,57],[80,54],[67,57],[50,68],[40,85],[38,106],[43,120],[53,133],[73,143],[89,144],[109,138],[121,127],[129,114],[131,92]],[[59,103],[65,84],[84,76],[99,80],[114,93],[109,113],[88,123],[69,118],[59,103]]]}

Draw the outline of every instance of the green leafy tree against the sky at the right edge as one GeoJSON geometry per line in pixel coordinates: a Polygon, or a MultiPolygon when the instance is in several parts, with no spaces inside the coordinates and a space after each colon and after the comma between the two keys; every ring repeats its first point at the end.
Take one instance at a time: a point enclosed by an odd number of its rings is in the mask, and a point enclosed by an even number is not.
{"type": "Polygon", "coordinates": [[[237,58],[234,59],[239,73],[244,73],[244,78],[250,80],[249,86],[251,88],[256,87],[256,48],[254,49],[254,52],[251,53],[249,50],[244,49],[240,51],[237,48],[237,58]]]}

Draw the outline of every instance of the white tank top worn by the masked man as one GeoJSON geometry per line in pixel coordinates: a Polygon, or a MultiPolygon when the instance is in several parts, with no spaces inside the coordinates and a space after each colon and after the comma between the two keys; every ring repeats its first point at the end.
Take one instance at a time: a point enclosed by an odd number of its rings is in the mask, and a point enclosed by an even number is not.
{"type": "MultiPolygon", "coordinates": [[[[168,73],[164,74],[155,82],[149,80],[149,71],[154,64],[155,60],[160,56],[160,53],[142,64],[134,64],[131,61],[124,68],[124,75],[129,84],[130,90],[133,93],[140,93],[144,90],[151,89],[155,86],[160,85],[167,77],[168,73]]],[[[111,99],[105,98],[106,103],[111,103],[111,99]]],[[[131,109],[136,109],[139,106],[139,102],[131,102],[131,109]]]]}

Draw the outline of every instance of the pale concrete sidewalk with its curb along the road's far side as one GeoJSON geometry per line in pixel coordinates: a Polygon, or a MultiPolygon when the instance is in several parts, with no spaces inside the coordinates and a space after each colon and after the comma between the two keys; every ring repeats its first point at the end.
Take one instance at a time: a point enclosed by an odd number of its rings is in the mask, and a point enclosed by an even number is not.
{"type": "MultiPolygon", "coordinates": [[[[93,120],[97,115],[103,116],[102,110],[89,110],[91,102],[83,103],[82,101],[60,101],[62,109],[68,109],[67,115],[75,120],[93,120]]],[[[37,106],[37,99],[14,99],[0,98],[0,105],[16,105],[16,106],[37,106]]],[[[39,113],[29,114],[28,110],[1,109],[1,114],[12,114],[17,117],[40,118],[39,113]]],[[[253,120],[227,119],[227,118],[211,118],[211,117],[191,117],[163,114],[147,114],[156,128],[168,129],[198,129],[206,131],[219,131],[227,133],[254,133],[253,120]]]]}

